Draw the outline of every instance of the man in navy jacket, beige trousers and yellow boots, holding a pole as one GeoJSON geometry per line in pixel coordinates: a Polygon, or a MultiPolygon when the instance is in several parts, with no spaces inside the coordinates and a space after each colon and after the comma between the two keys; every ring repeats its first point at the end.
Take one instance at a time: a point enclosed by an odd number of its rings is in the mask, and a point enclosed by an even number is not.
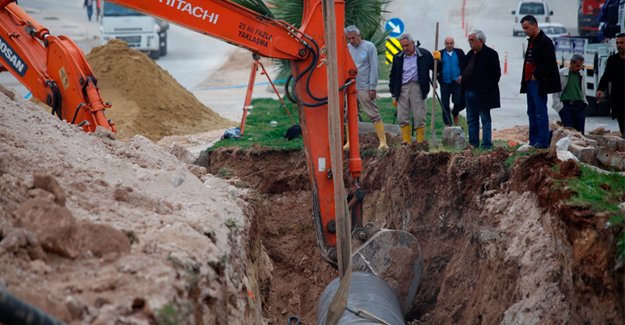
{"type": "MultiPolygon", "coordinates": [[[[399,38],[403,51],[393,57],[389,88],[397,107],[397,121],[402,144],[412,143],[410,115],[414,118],[417,143],[425,141],[425,98],[430,92],[430,70],[434,68],[432,54],[415,45],[410,34],[399,38]]],[[[439,53],[440,55],[440,53],[439,53]]]]}

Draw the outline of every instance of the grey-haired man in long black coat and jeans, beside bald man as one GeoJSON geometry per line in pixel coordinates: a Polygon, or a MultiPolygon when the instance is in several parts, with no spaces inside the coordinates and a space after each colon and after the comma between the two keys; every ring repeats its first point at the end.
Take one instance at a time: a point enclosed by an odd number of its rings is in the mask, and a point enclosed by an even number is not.
{"type": "Polygon", "coordinates": [[[469,144],[480,147],[480,120],[482,121],[482,148],[491,149],[492,125],[490,110],[501,107],[499,100],[499,55],[486,46],[486,35],[475,30],[469,34],[471,50],[467,53],[462,73],[462,89],[467,106],[469,144]]]}

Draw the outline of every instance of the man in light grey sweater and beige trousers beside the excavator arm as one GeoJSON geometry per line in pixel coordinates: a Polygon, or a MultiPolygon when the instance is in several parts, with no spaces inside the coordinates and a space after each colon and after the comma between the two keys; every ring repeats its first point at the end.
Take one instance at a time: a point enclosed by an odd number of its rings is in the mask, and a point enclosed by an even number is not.
{"type": "MultiPolygon", "coordinates": [[[[358,68],[358,75],[356,75],[358,103],[373,122],[375,133],[380,141],[378,149],[388,149],[384,123],[375,102],[377,97],[375,89],[378,86],[378,51],[373,43],[360,37],[360,30],[356,26],[346,27],[345,37],[349,43],[347,45],[349,54],[358,68]]],[[[349,141],[343,146],[343,149],[349,149],[349,141]]]]}

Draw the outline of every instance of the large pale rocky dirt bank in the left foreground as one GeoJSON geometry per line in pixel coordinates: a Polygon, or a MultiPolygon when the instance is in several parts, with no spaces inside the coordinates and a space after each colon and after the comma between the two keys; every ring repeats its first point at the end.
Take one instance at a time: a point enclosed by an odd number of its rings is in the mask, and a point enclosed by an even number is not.
{"type": "Polygon", "coordinates": [[[143,136],[85,133],[2,94],[0,108],[2,290],[67,324],[261,319],[242,190],[143,136]]]}

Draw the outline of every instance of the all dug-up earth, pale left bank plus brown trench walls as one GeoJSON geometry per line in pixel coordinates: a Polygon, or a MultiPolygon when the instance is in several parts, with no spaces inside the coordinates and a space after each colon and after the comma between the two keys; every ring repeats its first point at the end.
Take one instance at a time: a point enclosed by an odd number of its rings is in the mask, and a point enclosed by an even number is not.
{"type": "MultiPolygon", "coordinates": [[[[302,151],[219,149],[192,165],[173,143],[85,134],[4,95],[0,107],[3,289],[70,324],[315,323],[337,272],[318,251],[302,151]]],[[[618,229],[556,186],[574,163],[363,140],[366,221],[411,232],[424,257],[407,322],[625,322],[618,229]]]]}

